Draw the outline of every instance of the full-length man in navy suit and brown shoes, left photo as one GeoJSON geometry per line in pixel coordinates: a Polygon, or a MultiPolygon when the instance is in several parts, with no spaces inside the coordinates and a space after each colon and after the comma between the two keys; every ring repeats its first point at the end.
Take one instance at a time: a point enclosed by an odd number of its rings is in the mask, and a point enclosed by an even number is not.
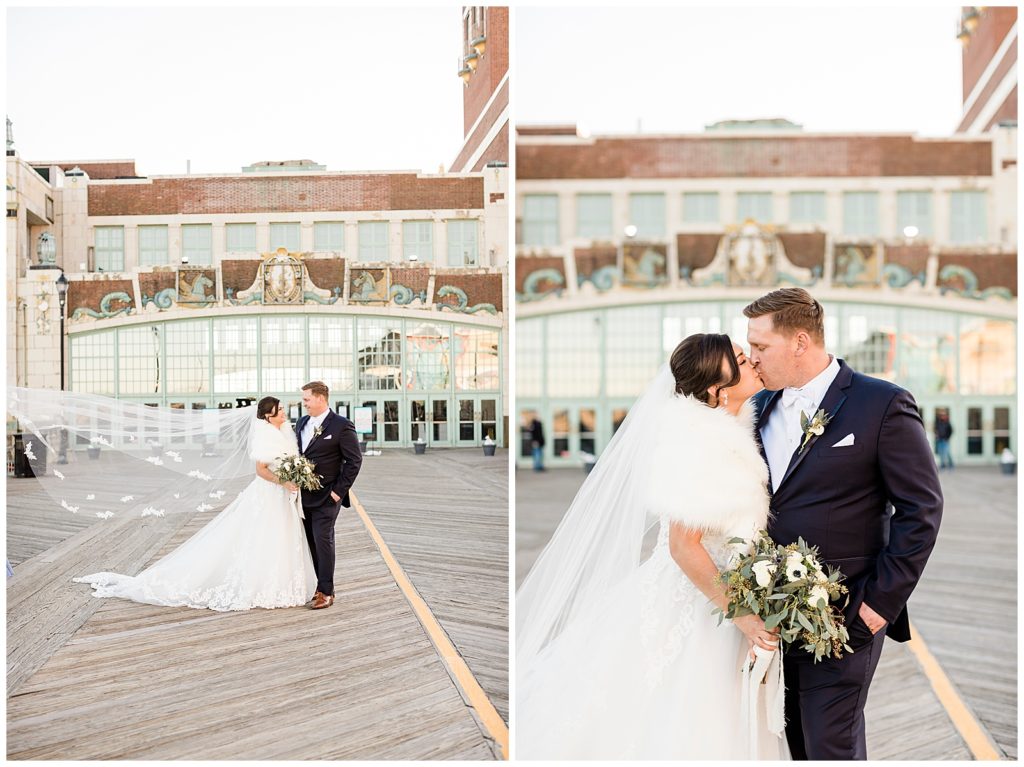
{"type": "Polygon", "coordinates": [[[309,605],[314,610],[334,604],[334,524],[341,507],[350,505],[348,491],[362,463],[355,427],[328,407],[329,394],[319,381],[303,386],[306,415],[295,425],[299,453],[316,466],[322,485],[302,491],[302,524],[316,570],[316,593],[309,605]]]}

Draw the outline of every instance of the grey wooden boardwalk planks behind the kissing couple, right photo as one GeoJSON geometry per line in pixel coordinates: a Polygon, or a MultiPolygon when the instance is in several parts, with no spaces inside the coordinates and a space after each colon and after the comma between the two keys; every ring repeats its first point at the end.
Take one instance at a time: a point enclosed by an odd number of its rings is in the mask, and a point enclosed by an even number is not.
{"type": "MultiPolygon", "coordinates": [[[[516,584],[582,484],[579,469],[516,470],[516,584]]],[[[998,469],[942,475],[939,541],[910,620],[1000,758],[1017,758],[1017,482],[998,469]]],[[[865,709],[872,760],[970,760],[906,644],[886,641],[865,709]]]]}

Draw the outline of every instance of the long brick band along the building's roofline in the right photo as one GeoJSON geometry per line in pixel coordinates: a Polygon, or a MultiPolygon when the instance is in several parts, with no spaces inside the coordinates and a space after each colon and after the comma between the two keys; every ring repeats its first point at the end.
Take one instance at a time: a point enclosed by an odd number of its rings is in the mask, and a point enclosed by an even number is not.
{"type": "Polygon", "coordinates": [[[990,176],[987,141],[911,136],[597,138],[516,146],[516,178],[990,176]]]}

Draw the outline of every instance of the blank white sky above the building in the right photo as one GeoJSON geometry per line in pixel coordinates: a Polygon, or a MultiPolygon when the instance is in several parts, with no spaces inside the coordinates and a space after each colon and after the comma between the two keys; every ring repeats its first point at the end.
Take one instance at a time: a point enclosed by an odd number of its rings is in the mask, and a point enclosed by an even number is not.
{"type": "Polygon", "coordinates": [[[805,131],[949,135],[958,18],[958,6],[522,7],[516,120],[676,133],[782,117],[805,131]]]}

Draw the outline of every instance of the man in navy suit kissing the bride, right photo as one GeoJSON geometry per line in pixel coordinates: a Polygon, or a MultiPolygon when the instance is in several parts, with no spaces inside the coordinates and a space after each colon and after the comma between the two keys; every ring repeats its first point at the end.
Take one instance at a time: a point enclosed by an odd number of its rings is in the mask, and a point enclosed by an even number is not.
{"type": "Polygon", "coordinates": [[[884,637],[910,638],[906,602],[935,545],[942,488],[913,397],[825,351],[824,311],[782,288],[743,309],[750,360],[766,389],[755,397],[772,492],[768,532],[802,537],[840,568],[854,652],[785,663],[785,734],[794,759],[866,759],[864,702],[884,637]],[[800,414],[823,411],[820,434],[800,414]],[[805,444],[806,441],[806,444],[805,444]]]}

